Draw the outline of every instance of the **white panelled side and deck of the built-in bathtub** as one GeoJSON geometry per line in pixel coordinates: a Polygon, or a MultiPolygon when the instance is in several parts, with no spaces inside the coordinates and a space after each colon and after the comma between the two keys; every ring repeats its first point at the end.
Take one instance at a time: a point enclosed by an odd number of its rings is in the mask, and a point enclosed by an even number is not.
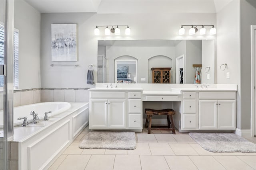
{"type": "MultiPolygon", "coordinates": [[[[88,125],[89,104],[70,102],[67,111],[38,124],[14,127],[11,142],[12,170],[48,169],[88,125]]],[[[0,137],[2,136],[0,130],[0,137]]]]}

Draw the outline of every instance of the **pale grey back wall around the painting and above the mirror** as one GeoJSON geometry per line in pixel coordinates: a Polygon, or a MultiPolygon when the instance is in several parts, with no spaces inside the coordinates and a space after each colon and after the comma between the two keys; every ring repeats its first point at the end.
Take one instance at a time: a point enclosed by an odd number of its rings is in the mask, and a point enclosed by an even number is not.
{"type": "MultiPolygon", "coordinates": [[[[97,65],[98,39],[215,39],[212,35],[178,35],[180,25],[216,25],[215,13],[172,14],[94,14],[48,13],[41,14],[41,86],[42,87],[91,87],[86,84],[87,66],[97,65]],[[51,24],[77,23],[78,61],[51,62],[51,24]],[[150,24],[154,23],[154,24],[150,24]],[[129,25],[131,35],[94,35],[96,25],[129,25]],[[157,31],[161,28],[161,31],[157,31]],[[51,67],[50,64],[79,64],[78,67],[51,67]]],[[[186,29],[188,31],[188,29],[186,29]]],[[[186,31],[186,32],[187,32],[186,31]]],[[[159,54],[158,54],[159,55],[159,54]]],[[[140,70],[138,70],[140,72],[140,70]]],[[[96,75],[96,74],[94,74],[96,75]]],[[[144,74],[147,77],[147,74],[144,74]]]]}

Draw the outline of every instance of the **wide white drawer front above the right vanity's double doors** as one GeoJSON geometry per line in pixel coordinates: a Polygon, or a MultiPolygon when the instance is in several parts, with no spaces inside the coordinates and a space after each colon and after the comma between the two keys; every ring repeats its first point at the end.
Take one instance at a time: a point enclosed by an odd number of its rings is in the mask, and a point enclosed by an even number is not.
{"type": "Polygon", "coordinates": [[[235,100],[236,92],[199,92],[199,99],[235,100]]]}

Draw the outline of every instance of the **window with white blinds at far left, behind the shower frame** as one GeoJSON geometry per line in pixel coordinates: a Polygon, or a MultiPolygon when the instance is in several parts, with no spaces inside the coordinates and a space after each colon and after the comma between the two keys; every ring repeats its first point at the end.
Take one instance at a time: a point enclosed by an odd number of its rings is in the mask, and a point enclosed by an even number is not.
{"type": "MultiPolygon", "coordinates": [[[[0,25],[0,64],[4,64],[4,26],[0,25]]],[[[19,30],[14,29],[14,87],[19,86],[19,30]]],[[[4,86],[4,76],[0,76],[0,87],[4,86]]]]}

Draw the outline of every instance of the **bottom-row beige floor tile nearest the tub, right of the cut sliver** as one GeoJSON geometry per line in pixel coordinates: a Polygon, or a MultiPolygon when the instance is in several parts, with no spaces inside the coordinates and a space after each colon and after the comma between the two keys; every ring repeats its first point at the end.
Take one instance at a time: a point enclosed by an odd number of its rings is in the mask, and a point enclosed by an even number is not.
{"type": "Polygon", "coordinates": [[[69,154],[57,170],[84,170],[91,155],[69,154]]]}

